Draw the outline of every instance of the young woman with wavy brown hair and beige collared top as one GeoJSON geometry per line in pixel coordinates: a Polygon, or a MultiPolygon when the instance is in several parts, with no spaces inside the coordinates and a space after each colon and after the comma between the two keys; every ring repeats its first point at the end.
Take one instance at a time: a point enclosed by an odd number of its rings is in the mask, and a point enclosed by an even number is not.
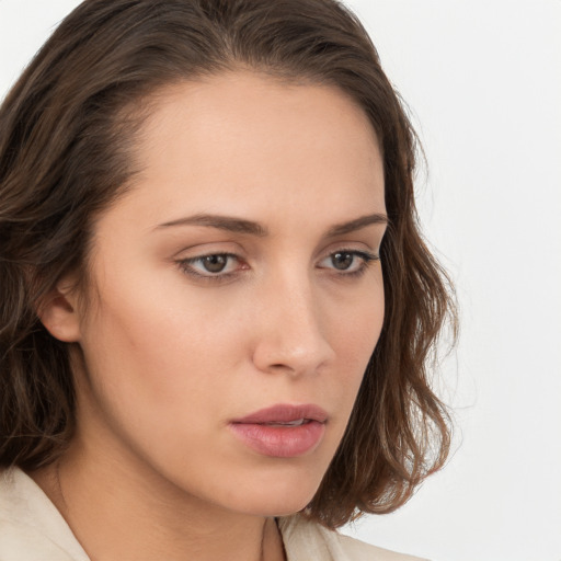
{"type": "Polygon", "coordinates": [[[405,559],[333,531],[449,445],[446,277],[356,19],[87,0],[0,125],[0,559],[405,559]]]}

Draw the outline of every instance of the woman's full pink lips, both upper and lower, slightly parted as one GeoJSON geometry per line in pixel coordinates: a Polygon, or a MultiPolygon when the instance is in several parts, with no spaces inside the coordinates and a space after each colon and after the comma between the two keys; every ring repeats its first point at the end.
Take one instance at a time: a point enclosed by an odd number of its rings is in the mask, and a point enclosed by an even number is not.
{"type": "Polygon", "coordinates": [[[328,414],[313,404],[278,404],[229,423],[242,444],[260,455],[293,458],[316,449],[325,432],[328,414]]]}

